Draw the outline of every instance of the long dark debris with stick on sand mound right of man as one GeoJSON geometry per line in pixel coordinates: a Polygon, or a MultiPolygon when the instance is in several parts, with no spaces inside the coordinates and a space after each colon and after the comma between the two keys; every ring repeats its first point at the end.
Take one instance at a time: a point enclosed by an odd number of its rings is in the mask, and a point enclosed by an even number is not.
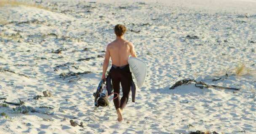
{"type": "Polygon", "coordinates": [[[219,89],[232,89],[232,90],[240,90],[240,88],[229,88],[229,87],[223,87],[223,86],[219,86],[219,85],[208,85],[206,84],[205,82],[203,81],[195,81],[194,79],[184,79],[184,80],[179,80],[177,81],[174,85],[171,86],[171,88],[169,89],[174,89],[178,86],[181,86],[181,85],[188,85],[190,84],[191,82],[195,82],[195,87],[197,88],[219,88],[219,89]]]}

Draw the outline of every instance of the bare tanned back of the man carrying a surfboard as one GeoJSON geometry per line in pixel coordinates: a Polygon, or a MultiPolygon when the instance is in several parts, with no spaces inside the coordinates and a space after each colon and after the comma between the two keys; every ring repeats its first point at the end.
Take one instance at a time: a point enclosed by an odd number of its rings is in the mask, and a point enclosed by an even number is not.
{"type": "Polygon", "coordinates": [[[131,45],[131,42],[124,39],[111,42],[107,47],[112,64],[119,67],[128,64],[128,58],[131,53],[131,45]]]}

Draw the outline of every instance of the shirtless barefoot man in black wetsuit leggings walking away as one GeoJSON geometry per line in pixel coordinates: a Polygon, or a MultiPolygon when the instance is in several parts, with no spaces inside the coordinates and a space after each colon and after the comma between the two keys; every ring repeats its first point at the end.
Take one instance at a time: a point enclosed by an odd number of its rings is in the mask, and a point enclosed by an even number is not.
{"type": "Polygon", "coordinates": [[[132,57],[137,57],[134,51],[134,46],[131,42],[124,39],[126,28],[123,25],[115,26],[116,39],[107,45],[105,59],[103,62],[102,78],[106,79],[106,71],[109,64],[109,57],[112,60],[112,67],[110,69],[110,75],[112,79],[112,85],[114,88],[114,104],[117,110],[117,120],[123,121],[122,111],[128,102],[129,93],[131,90],[132,76],[128,65],[128,58],[131,54],[132,57]],[[120,100],[120,82],[122,86],[123,96],[120,100]],[[117,94],[116,94],[117,93],[117,94]]]}

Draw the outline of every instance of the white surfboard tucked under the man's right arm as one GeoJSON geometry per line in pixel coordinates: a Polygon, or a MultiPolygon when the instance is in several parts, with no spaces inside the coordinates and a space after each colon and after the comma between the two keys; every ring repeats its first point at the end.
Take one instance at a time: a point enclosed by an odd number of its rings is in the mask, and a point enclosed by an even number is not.
{"type": "Polygon", "coordinates": [[[138,88],[141,88],[147,75],[147,64],[135,57],[129,57],[128,64],[136,79],[138,88]]]}

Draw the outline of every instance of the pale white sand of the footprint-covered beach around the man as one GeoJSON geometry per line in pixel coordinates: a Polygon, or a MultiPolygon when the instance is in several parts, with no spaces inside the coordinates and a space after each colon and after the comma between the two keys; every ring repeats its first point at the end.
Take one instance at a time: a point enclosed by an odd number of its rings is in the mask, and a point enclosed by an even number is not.
{"type": "Polygon", "coordinates": [[[0,116],[0,134],[178,134],[196,130],[256,134],[254,72],[234,75],[240,63],[250,70],[256,67],[256,1],[133,2],[43,0],[42,5],[50,10],[0,7],[0,19],[8,22],[0,24],[0,67],[28,76],[0,72],[0,98],[20,99],[39,110],[21,114],[13,112],[16,106],[0,107],[0,113],[9,116],[0,116]],[[38,23],[17,24],[33,20],[38,23]],[[101,51],[115,39],[117,23],[129,29],[125,39],[133,42],[137,55],[148,65],[144,87],[137,89],[136,103],[128,101],[122,123],[116,120],[112,101],[110,110],[93,111],[93,92],[104,60],[97,56],[104,55],[101,51]],[[199,39],[188,39],[188,35],[199,39]],[[52,53],[59,48],[66,50],[52,53]],[[96,58],[77,61],[88,57],[96,58]],[[67,62],[75,64],[56,67],[67,62]],[[93,73],[80,75],[80,80],[59,78],[69,70],[93,73]],[[226,73],[227,79],[211,81],[226,73]],[[185,78],[241,90],[200,89],[194,84],[169,90],[185,78]],[[33,99],[45,90],[51,90],[53,97],[33,99]],[[71,126],[70,119],[83,121],[84,128],[71,126]]]}

